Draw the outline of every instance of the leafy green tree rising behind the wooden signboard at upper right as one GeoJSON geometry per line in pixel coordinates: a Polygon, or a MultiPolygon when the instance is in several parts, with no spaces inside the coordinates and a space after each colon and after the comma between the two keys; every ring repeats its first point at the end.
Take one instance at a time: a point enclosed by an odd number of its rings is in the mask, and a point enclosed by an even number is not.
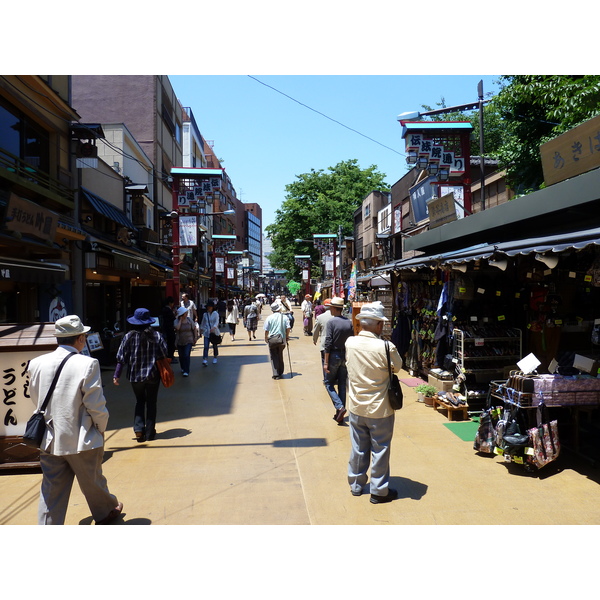
{"type": "Polygon", "coordinates": [[[498,158],[514,190],[538,189],[540,145],[600,114],[600,76],[503,75],[499,83],[491,103],[506,136],[498,158]]]}

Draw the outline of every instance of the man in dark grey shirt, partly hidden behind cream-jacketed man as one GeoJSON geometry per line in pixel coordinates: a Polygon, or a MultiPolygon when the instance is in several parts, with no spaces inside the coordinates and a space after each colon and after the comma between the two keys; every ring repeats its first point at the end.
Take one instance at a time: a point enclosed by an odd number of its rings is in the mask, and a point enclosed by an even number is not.
{"type": "Polygon", "coordinates": [[[335,407],[334,421],[344,424],[346,414],[346,340],[354,334],[352,321],[342,316],[344,300],[333,298],[329,305],[332,318],[325,326],[323,344],[323,370],[325,371],[325,389],[335,407]],[[336,390],[337,385],[337,390],[336,390]]]}

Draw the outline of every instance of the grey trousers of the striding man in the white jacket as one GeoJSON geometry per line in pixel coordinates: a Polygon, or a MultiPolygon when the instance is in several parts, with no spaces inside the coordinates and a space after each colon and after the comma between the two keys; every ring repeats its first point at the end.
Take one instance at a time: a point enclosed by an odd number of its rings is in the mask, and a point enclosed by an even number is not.
{"type": "Polygon", "coordinates": [[[73,479],[77,482],[90,508],[94,521],[101,521],[117,506],[102,474],[104,448],[79,454],[55,456],[40,453],[42,488],[38,506],[38,525],[64,525],[73,479]]]}

